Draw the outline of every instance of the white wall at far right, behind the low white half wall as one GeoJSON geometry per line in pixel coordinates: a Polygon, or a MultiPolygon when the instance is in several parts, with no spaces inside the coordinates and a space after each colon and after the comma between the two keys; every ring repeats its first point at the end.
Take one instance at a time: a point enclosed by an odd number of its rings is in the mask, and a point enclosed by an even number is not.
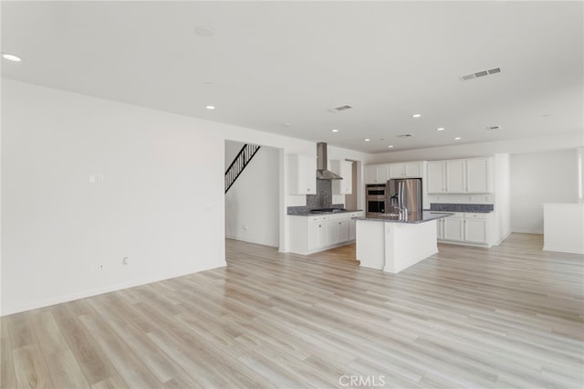
{"type": "Polygon", "coordinates": [[[576,203],[576,150],[511,155],[511,229],[543,234],[543,203],[576,203]]]}

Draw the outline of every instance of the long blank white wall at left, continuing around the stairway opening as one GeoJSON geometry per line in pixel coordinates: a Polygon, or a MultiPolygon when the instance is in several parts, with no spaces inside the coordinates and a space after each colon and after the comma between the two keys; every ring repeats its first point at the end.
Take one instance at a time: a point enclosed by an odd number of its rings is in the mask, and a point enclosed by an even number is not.
{"type": "Polygon", "coordinates": [[[315,142],[3,79],[2,314],[224,266],[226,139],[283,149],[286,250],[306,196],[287,195],[284,154],[315,142]]]}

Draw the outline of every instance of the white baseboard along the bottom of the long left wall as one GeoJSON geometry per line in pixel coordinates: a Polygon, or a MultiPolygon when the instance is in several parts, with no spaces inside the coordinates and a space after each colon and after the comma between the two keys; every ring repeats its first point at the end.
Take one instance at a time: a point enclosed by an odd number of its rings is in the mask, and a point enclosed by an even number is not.
{"type": "MultiPolygon", "coordinates": [[[[223,268],[225,266],[227,266],[226,262],[224,262],[224,264],[221,266],[214,266],[212,268],[201,268],[201,269],[194,271],[193,273],[198,273],[200,271],[205,271],[205,270],[211,270],[213,268],[223,268]]],[[[57,296],[57,297],[53,297],[53,298],[45,299],[45,300],[36,300],[34,302],[31,302],[31,303],[28,303],[25,305],[16,306],[16,307],[3,306],[2,312],[0,312],[0,316],[12,315],[13,313],[24,312],[26,310],[36,310],[37,308],[44,308],[44,307],[48,307],[51,305],[61,304],[63,302],[68,302],[68,301],[73,301],[73,300],[86,299],[88,297],[97,296],[99,294],[110,293],[112,291],[121,290],[121,289],[138,287],[141,285],[151,284],[152,282],[162,281],[164,279],[175,279],[177,277],[187,276],[187,275],[193,274],[193,273],[167,274],[167,275],[160,276],[160,277],[152,277],[150,279],[139,279],[139,280],[133,280],[130,282],[122,282],[122,283],[116,284],[116,285],[109,285],[109,286],[97,288],[97,289],[83,290],[83,291],[80,291],[78,293],[66,294],[66,295],[57,296]]]]}

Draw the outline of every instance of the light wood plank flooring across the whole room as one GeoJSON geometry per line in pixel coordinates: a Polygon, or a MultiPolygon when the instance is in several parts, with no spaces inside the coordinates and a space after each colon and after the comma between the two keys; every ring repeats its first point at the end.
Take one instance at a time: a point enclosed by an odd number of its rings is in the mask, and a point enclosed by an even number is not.
{"type": "Polygon", "coordinates": [[[3,317],[1,386],[584,386],[583,258],[540,236],[440,245],[399,275],[354,247],[226,245],[227,268],[3,317]]]}

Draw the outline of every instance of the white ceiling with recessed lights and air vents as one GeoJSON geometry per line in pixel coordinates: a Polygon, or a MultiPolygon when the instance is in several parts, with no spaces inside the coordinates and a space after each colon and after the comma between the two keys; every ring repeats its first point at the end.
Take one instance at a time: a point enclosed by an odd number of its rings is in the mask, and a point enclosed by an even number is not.
{"type": "Polygon", "coordinates": [[[2,73],[363,152],[566,134],[584,128],[583,11],[551,1],[3,1],[2,51],[23,61],[3,60],[2,73]],[[328,112],[345,104],[354,108],[328,112]]]}

